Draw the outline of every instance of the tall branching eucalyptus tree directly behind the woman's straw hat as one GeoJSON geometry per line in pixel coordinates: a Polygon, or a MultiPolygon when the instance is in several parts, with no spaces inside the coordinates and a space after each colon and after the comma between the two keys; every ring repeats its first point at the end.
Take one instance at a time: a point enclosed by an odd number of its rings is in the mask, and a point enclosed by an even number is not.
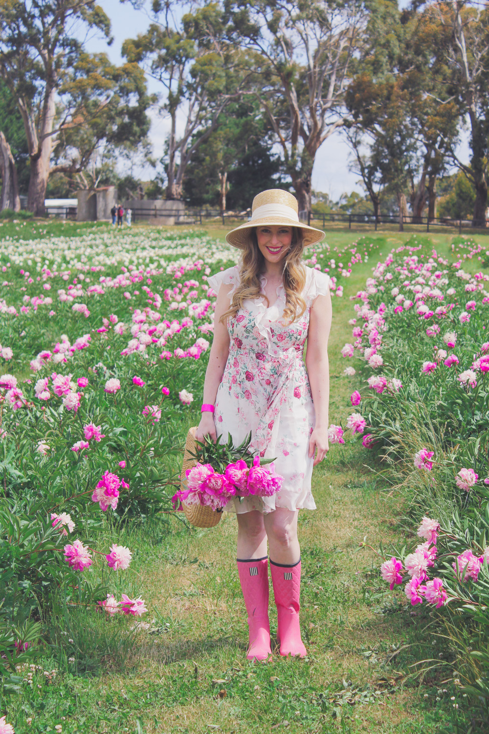
{"type": "Polygon", "coordinates": [[[345,92],[361,62],[367,3],[224,0],[224,9],[230,37],[254,51],[250,92],[270,120],[299,208],[310,211],[317,150],[345,125],[345,92]]]}

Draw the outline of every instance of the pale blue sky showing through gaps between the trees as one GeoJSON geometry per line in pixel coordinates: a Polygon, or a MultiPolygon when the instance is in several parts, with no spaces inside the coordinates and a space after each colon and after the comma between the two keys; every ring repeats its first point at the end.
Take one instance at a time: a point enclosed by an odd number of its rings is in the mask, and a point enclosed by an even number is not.
{"type": "MultiPolygon", "coordinates": [[[[150,19],[144,10],[135,10],[129,2],[122,4],[119,0],[99,0],[99,4],[111,19],[114,43],[108,46],[105,39],[93,38],[88,40],[87,50],[106,51],[111,62],[120,64],[124,61],[120,55],[122,42],[126,38],[136,37],[138,33],[144,33],[150,19]]],[[[406,4],[406,0],[401,1],[400,4],[406,4]]],[[[150,92],[161,91],[160,85],[152,79],[148,80],[148,88],[150,92]]],[[[159,159],[163,155],[163,147],[169,131],[169,120],[161,117],[156,109],[150,112],[150,117],[152,120],[150,140],[153,155],[159,159]]],[[[461,135],[457,153],[463,162],[468,161],[469,148],[466,131],[463,131],[461,135]]],[[[338,200],[345,192],[356,191],[363,194],[364,190],[360,185],[359,175],[349,170],[350,159],[350,148],[342,138],[341,132],[335,132],[323,142],[317,151],[312,171],[313,189],[326,192],[333,200],[338,200]]],[[[153,178],[155,171],[147,166],[134,170],[134,174],[144,180],[153,178]]]]}

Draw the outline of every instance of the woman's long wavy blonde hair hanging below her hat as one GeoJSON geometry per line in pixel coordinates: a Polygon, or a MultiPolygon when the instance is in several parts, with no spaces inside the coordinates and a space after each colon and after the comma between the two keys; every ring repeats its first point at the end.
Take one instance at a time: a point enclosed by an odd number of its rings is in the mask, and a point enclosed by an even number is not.
{"type": "MultiPolygon", "coordinates": [[[[303,252],[302,230],[293,227],[290,250],[284,258],[285,308],[283,318],[285,320],[289,319],[289,324],[292,324],[295,319],[300,319],[306,310],[306,302],[301,296],[306,285],[306,269],[301,262],[303,252]]],[[[240,259],[240,284],[232,295],[231,306],[221,316],[223,323],[227,319],[236,316],[238,310],[243,308],[246,299],[260,297],[262,290],[260,275],[264,270],[264,266],[265,258],[258,249],[257,228],[254,227],[250,230],[249,240],[240,259]]],[[[270,305],[266,297],[265,300],[270,305]]]]}

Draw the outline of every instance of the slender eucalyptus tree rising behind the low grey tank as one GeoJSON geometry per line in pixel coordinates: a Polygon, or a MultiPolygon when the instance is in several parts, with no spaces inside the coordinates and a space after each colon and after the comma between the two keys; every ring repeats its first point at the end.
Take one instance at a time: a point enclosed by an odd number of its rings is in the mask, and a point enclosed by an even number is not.
{"type": "Polygon", "coordinates": [[[192,155],[216,130],[229,101],[238,98],[239,86],[233,71],[239,46],[235,48],[224,37],[220,5],[205,2],[181,17],[180,6],[172,0],[164,4],[155,0],[147,32],[125,40],[122,46],[129,61],[141,64],[161,84],[160,112],[170,120],[166,142],[166,199],[170,200],[182,198],[192,155]]]}

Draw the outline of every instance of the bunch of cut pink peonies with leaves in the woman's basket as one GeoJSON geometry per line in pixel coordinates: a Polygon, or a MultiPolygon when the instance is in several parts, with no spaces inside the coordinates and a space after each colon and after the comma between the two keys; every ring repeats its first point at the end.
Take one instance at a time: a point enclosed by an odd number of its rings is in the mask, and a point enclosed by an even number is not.
{"type": "Polygon", "coordinates": [[[254,495],[270,497],[280,490],[284,478],[275,472],[272,459],[261,459],[249,451],[251,434],[235,447],[227,443],[196,443],[196,465],[185,471],[186,487],[173,496],[187,505],[199,504],[222,509],[229,499],[254,495]]]}

